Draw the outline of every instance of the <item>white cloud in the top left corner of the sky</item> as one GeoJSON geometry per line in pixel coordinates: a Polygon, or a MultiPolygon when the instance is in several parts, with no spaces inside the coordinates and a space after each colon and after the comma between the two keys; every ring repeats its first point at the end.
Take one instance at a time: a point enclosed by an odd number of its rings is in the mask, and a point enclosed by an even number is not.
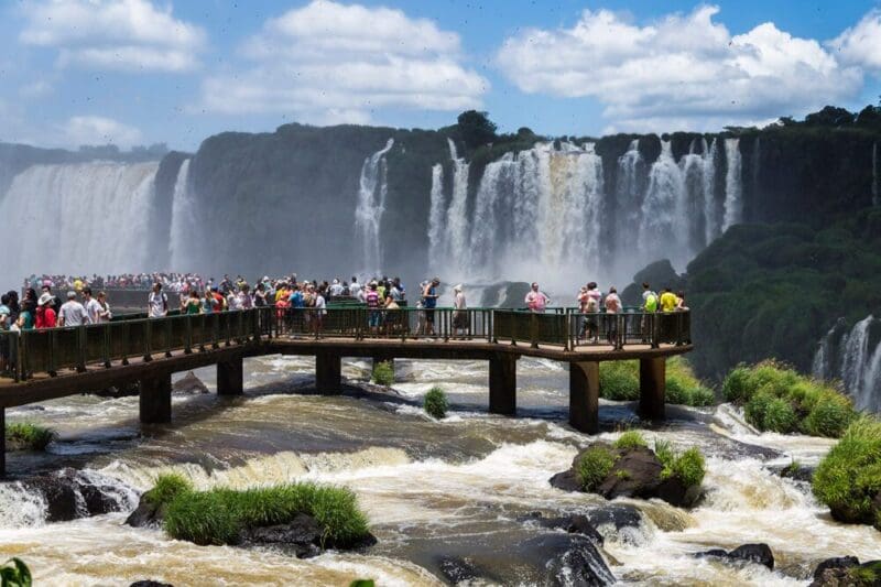
{"type": "Polygon", "coordinates": [[[58,48],[58,65],[187,72],[205,32],[150,0],[47,0],[24,6],[22,43],[58,48]]]}

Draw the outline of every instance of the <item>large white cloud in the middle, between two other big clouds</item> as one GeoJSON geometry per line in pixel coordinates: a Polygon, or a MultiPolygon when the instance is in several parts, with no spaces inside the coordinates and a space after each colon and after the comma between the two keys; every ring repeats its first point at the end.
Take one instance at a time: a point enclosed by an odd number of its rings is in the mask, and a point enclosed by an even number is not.
{"type": "Polygon", "coordinates": [[[479,107],[489,88],[461,65],[456,33],[388,8],[315,0],[267,21],[241,56],[203,84],[207,110],[365,123],[376,108],[479,107]]]}

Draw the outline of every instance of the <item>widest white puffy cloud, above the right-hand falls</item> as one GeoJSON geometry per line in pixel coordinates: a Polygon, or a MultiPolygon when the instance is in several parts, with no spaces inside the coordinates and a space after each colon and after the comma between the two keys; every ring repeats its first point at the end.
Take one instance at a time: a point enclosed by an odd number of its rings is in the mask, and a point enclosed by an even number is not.
{"type": "MultiPolygon", "coordinates": [[[[596,98],[620,130],[746,124],[852,98],[862,88],[862,70],[817,41],[770,22],[732,35],[714,22],[718,12],[700,6],[638,25],[608,10],[585,10],[570,29],[507,39],[497,62],[523,91],[596,98]]],[[[859,53],[866,37],[851,37],[859,53]]],[[[877,36],[874,43],[877,54],[877,36]]]]}

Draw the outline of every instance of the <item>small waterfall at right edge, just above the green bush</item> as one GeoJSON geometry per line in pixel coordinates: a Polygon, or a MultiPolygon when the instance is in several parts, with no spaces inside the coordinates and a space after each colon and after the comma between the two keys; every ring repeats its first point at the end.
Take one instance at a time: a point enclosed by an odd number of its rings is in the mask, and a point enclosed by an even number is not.
{"type": "Polygon", "coordinates": [[[881,319],[868,316],[850,331],[839,320],[820,340],[813,372],[840,380],[857,409],[881,412],[881,319]]]}

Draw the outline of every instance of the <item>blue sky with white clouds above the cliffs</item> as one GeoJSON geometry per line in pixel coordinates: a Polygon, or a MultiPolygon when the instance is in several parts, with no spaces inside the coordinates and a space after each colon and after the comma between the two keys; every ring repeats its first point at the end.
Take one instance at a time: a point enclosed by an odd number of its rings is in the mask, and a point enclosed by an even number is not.
{"type": "Polygon", "coordinates": [[[714,131],[881,95],[881,0],[0,0],[0,141],[714,131]]]}

